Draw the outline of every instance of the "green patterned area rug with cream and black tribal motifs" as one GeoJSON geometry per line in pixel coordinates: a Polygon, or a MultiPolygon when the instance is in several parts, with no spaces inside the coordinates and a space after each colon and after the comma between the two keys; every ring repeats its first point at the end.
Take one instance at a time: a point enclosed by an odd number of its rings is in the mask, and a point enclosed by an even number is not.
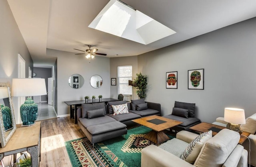
{"type": "Polygon", "coordinates": [[[154,144],[143,138],[150,131],[145,126],[132,128],[125,139],[108,139],[94,144],[94,148],[86,137],[66,141],[65,145],[73,167],[140,167],[141,150],[154,144]]]}

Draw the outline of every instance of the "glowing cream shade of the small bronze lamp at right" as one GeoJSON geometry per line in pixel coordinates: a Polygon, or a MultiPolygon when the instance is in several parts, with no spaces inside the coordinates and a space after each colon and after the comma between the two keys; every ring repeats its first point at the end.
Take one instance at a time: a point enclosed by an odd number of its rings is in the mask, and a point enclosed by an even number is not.
{"type": "Polygon", "coordinates": [[[225,108],[224,121],[231,124],[245,124],[244,110],[240,108],[225,108]]]}

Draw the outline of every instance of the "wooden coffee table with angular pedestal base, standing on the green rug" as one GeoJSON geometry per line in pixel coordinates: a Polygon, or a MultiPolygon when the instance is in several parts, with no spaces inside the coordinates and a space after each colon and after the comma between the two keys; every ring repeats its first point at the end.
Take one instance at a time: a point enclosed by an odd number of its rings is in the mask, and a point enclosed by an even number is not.
{"type": "Polygon", "coordinates": [[[146,126],[152,131],[150,131],[146,136],[144,136],[145,139],[148,139],[149,141],[152,141],[153,143],[160,144],[164,141],[169,140],[170,138],[162,132],[163,130],[166,130],[168,128],[172,128],[176,125],[182,124],[183,122],[171,120],[169,118],[164,118],[162,116],[148,116],[144,118],[138,118],[136,120],[132,120],[133,122],[136,122],[137,124],[146,126]],[[155,120],[156,119],[156,120],[155,120]],[[148,121],[155,120],[156,122],[160,124],[151,123],[148,121]],[[161,123],[164,121],[164,123],[161,123]]]}

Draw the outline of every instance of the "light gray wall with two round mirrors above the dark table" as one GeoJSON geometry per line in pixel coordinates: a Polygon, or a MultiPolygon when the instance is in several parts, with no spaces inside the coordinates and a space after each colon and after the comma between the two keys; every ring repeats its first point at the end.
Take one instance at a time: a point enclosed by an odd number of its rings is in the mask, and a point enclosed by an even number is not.
{"type": "Polygon", "coordinates": [[[84,100],[84,96],[102,95],[103,98],[110,97],[110,58],[96,56],[89,60],[84,55],[75,55],[75,53],[47,49],[47,55],[57,57],[57,94],[58,94],[58,116],[70,114],[69,106],[64,101],[84,100]],[[84,78],[84,85],[81,88],[71,88],[68,84],[68,78],[72,74],[80,74],[84,78]],[[90,77],[100,75],[103,84],[100,88],[93,88],[90,85],[90,77]]]}

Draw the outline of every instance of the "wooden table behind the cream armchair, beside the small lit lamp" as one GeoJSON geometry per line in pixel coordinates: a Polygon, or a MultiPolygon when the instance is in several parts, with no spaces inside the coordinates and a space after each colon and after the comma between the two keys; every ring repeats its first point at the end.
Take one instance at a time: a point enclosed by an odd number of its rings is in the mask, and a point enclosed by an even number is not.
{"type": "MultiPolygon", "coordinates": [[[[224,126],[218,126],[218,125],[210,124],[207,122],[202,122],[200,124],[192,126],[190,127],[190,129],[194,130],[195,132],[204,133],[204,132],[208,132],[209,129],[212,127],[219,128],[219,129],[226,129],[226,127],[224,126]]],[[[215,136],[216,134],[218,134],[218,132],[214,132],[212,130],[212,136],[215,136]]],[[[243,132],[242,135],[240,135],[239,144],[244,143],[244,141],[247,139],[246,136],[248,137],[249,135],[250,135],[249,132],[243,132]]]]}

